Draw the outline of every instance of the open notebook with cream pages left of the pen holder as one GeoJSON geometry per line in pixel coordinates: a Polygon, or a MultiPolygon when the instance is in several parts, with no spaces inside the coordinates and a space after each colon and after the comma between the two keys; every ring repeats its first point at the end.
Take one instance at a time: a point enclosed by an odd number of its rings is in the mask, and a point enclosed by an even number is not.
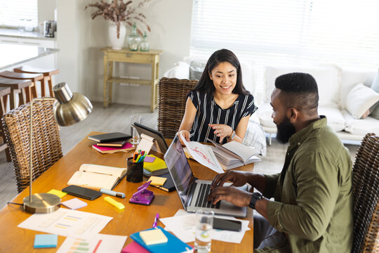
{"type": "Polygon", "coordinates": [[[112,190],[125,175],[126,168],[81,164],[79,171],[75,171],[67,185],[112,190]]]}

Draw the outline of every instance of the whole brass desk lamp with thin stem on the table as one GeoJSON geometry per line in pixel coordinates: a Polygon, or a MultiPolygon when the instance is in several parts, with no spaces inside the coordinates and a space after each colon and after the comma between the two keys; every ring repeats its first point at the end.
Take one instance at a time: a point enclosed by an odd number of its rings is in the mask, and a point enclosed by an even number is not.
{"type": "Polygon", "coordinates": [[[23,209],[26,212],[36,214],[48,214],[60,207],[60,197],[51,193],[32,194],[32,175],[33,175],[33,103],[36,100],[55,100],[53,113],[55,121],[60,126],[69,126],[81,122],[92,111],[92,104],[88,98],[79,94],[72,93],[65,82],[53,86],[55,98],[34,98],[30,103],[30,130],[29,130],[29,196],[24,198],[23,209]]]}

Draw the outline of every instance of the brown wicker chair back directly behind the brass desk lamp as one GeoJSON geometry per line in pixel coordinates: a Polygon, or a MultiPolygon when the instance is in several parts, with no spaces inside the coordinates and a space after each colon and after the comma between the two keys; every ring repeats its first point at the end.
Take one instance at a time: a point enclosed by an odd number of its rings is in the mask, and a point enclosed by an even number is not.
{"type": "MultiPolygon", "coordinates": [[[[53,103],[53,100],[45,100],[33,104],[33,180],[62,157],[53,103]]],[[[2,121],[20,193],[29,186],[30,103],[6,112],[2,121]]]]}

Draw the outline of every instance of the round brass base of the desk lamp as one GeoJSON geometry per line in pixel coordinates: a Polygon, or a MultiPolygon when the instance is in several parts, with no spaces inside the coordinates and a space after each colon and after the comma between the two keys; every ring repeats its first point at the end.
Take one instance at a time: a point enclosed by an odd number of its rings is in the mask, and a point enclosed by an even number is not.
{"type": "Polygon", "coordinates": [[[35,193],[32,201],[24,197],[24,211],[32,214],[50,214],[60,207],[60,197],[51,193],[35,193]]]}

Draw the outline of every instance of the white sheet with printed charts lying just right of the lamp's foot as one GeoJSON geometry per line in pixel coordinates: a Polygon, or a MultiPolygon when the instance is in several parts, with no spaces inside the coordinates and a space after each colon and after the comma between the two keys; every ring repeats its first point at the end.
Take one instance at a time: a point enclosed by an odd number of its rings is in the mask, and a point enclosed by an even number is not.
{"type": "Polygon", "coordinates": [[[33,214],[18,227],[73,238],[89,239],[113,217],[60,208],[51,214],[33,214]]]}

